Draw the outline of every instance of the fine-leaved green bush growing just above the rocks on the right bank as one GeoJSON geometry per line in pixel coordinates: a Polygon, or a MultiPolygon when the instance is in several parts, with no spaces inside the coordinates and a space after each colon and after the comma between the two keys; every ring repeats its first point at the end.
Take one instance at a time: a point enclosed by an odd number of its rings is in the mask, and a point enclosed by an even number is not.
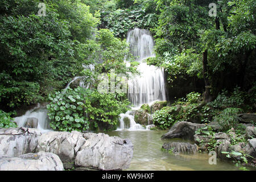
{"type": "Polygon", "coordinates": [[[239,117],[237,114],[241,111],[238,108],[226,108],[220,114],[216,115],[213,121],[216,121],[221,126],[222,131],[228,131],[238,123],[239,117]]]}

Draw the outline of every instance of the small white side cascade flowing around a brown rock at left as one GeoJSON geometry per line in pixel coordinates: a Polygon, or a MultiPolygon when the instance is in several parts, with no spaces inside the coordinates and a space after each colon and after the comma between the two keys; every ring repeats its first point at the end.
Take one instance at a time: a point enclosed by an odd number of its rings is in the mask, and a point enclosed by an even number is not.
{"type": "Polygon", "coordinates": [[[38,106],[34,107],[33,109],[26,111],[24,115],[20,117],[15,117],[14,122],[16,122],[19,127],[22,127],[26,125],[26,121],[28,118],[37,118],[37,129],[39,129],[42,133],[46,133],[48,131],[51,131],[49,129],[49,119],[47,113],[47,109],[38,104],[38,106]]]}

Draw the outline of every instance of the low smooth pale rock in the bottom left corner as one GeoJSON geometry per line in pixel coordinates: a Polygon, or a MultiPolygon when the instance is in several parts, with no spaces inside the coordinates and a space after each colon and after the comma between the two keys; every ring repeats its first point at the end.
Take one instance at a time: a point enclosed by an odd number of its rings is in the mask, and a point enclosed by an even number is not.
{"type": "Polygon", "coordinates": [[[0,156],[0,171],[63,171],[59,156],[40,151],[18,157],[0,156]]]}

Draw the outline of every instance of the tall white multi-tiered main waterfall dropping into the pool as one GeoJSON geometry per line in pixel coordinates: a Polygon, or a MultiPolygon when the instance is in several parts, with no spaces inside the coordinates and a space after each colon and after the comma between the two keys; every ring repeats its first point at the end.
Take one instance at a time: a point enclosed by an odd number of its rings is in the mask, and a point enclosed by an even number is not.
{"type": "MultiPolygon", "coordinates": [[[[144,60],[148,57],[155,56],[153,53],[154,39],[150,31],[135,28],[128,32],[127,42],[130,44],[131,54],[140,62],[137,69],[141,72],[141,75],[128,80],[128,98],[131,104],[136,106],[133,109],[139,109],[142,104],[151,105],[154,101],[166,100],[163,68],[156,68],[154,65],[144,63],[144,60]]],[[[119,119],[120,126],[118,130],[126,129],[123,121],[124,118],[130,119],[129,130],[144,129],[144,127],[134,121],[134,116],[131,113],[131,111],[128,111],[120,115],[121,119],[119,119]]]]}

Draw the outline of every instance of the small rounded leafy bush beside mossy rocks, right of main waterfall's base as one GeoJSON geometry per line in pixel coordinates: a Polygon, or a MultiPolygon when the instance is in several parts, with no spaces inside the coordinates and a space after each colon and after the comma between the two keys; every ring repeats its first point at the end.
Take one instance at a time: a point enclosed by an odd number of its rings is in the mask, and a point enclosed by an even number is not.
{"type": "Polygon", "coordinates": [[[155,111],[152,115],[153,123],[161,129],[166,130],[174,124],[174,119],[167,109],[155,111]]]}

